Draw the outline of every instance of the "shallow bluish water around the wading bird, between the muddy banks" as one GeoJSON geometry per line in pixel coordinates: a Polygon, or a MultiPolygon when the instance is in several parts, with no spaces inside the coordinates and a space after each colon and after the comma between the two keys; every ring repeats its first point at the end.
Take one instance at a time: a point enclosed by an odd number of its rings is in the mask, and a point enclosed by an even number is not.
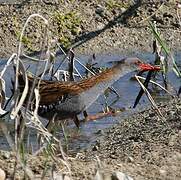
{"type": "MultiPolygon", "coordinates": [[[[141,59],[147,60],[149,62],[153,62],[154,60],[153,54],[138,53],[135,54],[135,56],[140,57],[141,59]]],[[[98,67],[99,66],[110,67],[112,66],[114,61],[120,60],[122,57],[123,56],[121,55],[115,55],[115,54],[97,55],[95,62],[97,63],[98,67]]],[[[83,64],[85,64],[87,60],[90,59],[90,56],[81,55],[77,58],[81,60],[83,64]]],[[[57,59],[60,59],[60,57],[57,59]]],[[[181,66],[181,53],[176,53],[175,59],[179,64],[179,66],[181,66]]],[[[5,62],[6,60],[0,61],[0,70],[3,68],[5,62]]],[[[83,67],[81,67],[78,63],[75,63],[75,66],[81,72],[81,74],[83,73],[83,71],[85,71],[83,67]]],[[[29,67],[29,70],[34,71],[35,67],[36,65],[32,65],[31,67],[29,67]]],[[[9,70],[4,76],[7,85],[11,84],[11,78],[13,74],[14,74],[13,69],[9,68],[9,70]]],[[[138,83],[136,81],[130,80],[130,77],[133,77],[134,74],[135,72],[127,74],[113,85],[114,89],[120,95],[119,98],[117,98],[117,96],[114,93],[109,93],[109,96],[107,97],[108,105],[111,105],[111,107],[114,109],[124,109],[123,112],[119,113],[117,116],[114,117],[104,117],[96,121],[81,123],[79,130],[77,130],[77,128],[72,124],[65,127],[66,134],[68,135],[69,151],[77,152],[80,149],[88,147],[92,142],[96,141],[96,138],[102,134],[105,128],[115,125],[116,123],[119,123],[123,118],[127,117],[128,115],[143,110],[150,106],[149,101],[144,96],[141,98],[137,108],[136,109],[132,108],[135,98],[140,90],[138,83]]],[[[178,90],[179,86],[181,85],[180,79],[177,78],[173,72],[169,72],[168,79],[170,84],[174,87],[174,89],[178,90]]],[[[161,78],[158,78],[158,82],[161,82],[161,78]]],[[[7,88],[7,95],[10,96],[10,94],[11,90],[10,88],[7,88]]],[[[165,92],[163,91],[157,91],[156,93],[154,92],[153,94],[154,98],[157,101],[165,101],[169,97],[168,94],[165,94],[165,92]]],[[[105,107],[105,98],[103,96],[100,96],[98,100],[87,110],[87,112],[88,114],[96,114],[102,111],[103,107],[105,107]]],[[[81,119],[82,116],[80,116],[79,118],[81,119]]],[[[9,129],[12,129],[13,127],[12,122],[8,122],[8,127],[9,129]]],[[[62,131],[61,130],[57,131],[57,135],[60,138],[62,138],[63,136],[62,131]]],[[[35,134],[31,133],[29,141],[30,141],[29,143],[32,144],[32,146],[35,146],[36,144],[35,134]]],[[[0,132],[0,148],[9,149],[7,141],[4,138],[2,132],[0,132]]]]}

